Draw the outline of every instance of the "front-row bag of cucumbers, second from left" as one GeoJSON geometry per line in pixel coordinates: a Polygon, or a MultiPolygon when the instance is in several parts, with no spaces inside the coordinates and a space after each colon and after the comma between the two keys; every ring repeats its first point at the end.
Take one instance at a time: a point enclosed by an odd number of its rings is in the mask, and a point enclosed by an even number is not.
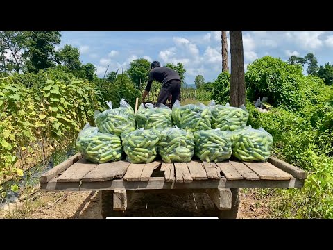
{"type": "Polygon", "coordinates": [[[160,132],[155,129],[140,128],[121,135],[123,151],[130,163],[151,163],[157,156],[157,142],[160,132]]]}

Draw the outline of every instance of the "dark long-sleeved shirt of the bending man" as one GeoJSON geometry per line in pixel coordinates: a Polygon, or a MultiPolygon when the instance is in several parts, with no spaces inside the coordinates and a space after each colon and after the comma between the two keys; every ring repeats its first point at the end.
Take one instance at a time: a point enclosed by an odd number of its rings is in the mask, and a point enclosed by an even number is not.
{"type": "Polygon", "coordinates": [[[151,69],[151,72],[149,72],[149,78],[146,90],[151,90],[151,83],[153,83],[153,80],[158,81],[162,83],[162,86],[169,82],[170,80],[179,80],[180,76],[176,72],[176,70],[173,70],[169,67],[155,67],[154,69],[151,69]]]}

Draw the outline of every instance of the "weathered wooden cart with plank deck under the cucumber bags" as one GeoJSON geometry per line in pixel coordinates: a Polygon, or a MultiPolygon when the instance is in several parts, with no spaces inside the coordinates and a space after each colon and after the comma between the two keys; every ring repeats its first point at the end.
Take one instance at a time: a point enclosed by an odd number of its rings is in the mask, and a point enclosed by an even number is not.
{"type": "Polygon", "coordinates": [[[126,161],[89,163],[80,153],[40,177],[46,191],[99,190],[101,215],[121,216],[135,191],[205,192],[216,205],[219,218],[236,218],[239,188],[302,188],[307,173],[270,157],[267,163],[161,163],[126,161]]]}

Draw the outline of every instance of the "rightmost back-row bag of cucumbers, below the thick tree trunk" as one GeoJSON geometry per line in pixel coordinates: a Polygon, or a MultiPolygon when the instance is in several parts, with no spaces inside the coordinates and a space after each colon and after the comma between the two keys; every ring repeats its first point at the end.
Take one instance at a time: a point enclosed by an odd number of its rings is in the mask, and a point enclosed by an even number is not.
{"type": "Polygon", "coordinates": [[[215,105],[214,101],[208,104],[212,112],[212,128],[220,128],[222,131],[235,131],[246,126],[248,122],[248,110],[244,105],[239,108],[223,105],[215,105]]]}

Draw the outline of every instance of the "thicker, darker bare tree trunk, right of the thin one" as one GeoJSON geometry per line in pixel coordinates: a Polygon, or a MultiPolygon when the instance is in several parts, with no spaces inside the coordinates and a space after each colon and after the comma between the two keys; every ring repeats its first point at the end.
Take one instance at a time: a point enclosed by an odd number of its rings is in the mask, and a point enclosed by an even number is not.
{"type": "Polygon", "coordinates": [[[230,31],[230,104],[245,105],[244,51],[241,31],[230,31]]]}

